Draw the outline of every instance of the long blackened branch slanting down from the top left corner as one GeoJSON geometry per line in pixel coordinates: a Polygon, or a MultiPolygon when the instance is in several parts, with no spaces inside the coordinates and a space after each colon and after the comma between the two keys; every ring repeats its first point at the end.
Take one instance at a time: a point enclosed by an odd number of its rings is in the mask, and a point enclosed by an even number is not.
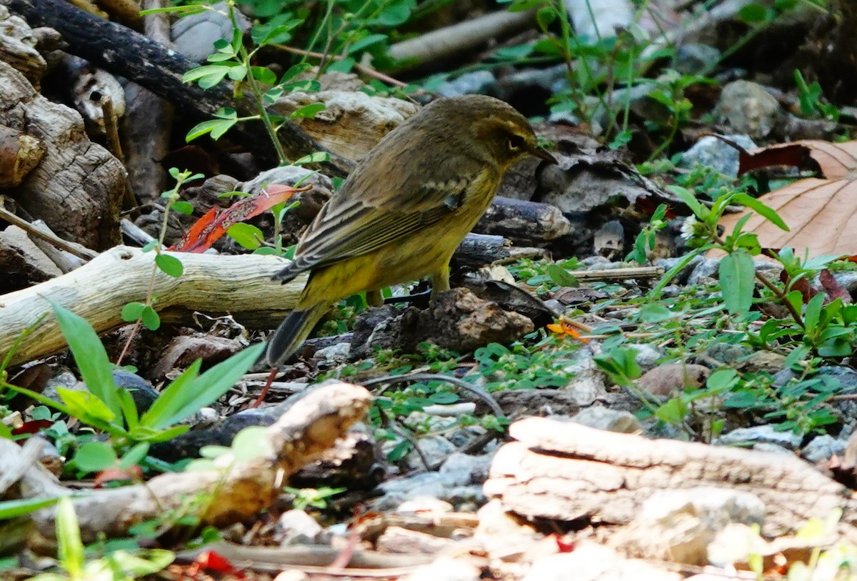
{"type": "MultiPolygon", "coordinates": [[[[182,76],[196,63],[130,28],[89,15],[63,0],[0,0],[0,4],[23,15],[31,26],[55,28],[69,44],[70,53],[146,87],[189,117],[207,120],[224,106],[234,108],[239,117],[256,113],[249,97],[232,99],[231,88],[225,83],[208,90],[183,83],[182,76]]],[[[261,123],[239,123],[229,135],[259,159],[271,165],[279,163],[261,123]]],[[[279,129],[279,138],[292,159],[323,150],[291,123],[279,129]]],[[[325,169],[345,176],[351,164],[333,155],[325,169]]]]}

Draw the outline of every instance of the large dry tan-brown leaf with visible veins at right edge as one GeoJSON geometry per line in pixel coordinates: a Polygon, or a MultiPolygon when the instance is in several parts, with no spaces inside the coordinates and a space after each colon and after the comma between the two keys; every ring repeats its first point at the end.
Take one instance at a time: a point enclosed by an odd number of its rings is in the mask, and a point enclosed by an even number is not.
{"type": "MultiPolygon", "coordinates": [[[[767,147],[742,159],[742,170],[788,163],[788,159],[796,157],[795,148],[805,151],[826,178],[802,179],[759,196],[759,201],[773,208],[790,231],[780,230],[758,214],[752,216],[744,230],[756,233],[765,249],[790,246],[799,256],[805,251],[810,256],[857,255],[857,141],[797,141],[767,147]]],[[[724,216],[720,225],[731,232],[743,215],[724,216]]]]}

